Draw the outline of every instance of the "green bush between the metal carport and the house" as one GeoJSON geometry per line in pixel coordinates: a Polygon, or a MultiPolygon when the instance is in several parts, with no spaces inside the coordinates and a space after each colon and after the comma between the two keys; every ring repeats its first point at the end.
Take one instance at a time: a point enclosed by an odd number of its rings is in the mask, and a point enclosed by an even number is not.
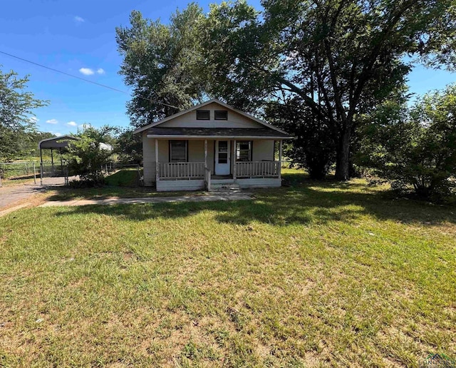
{"type": "Polygon", "coordinates": [[[113,129],[108,126],[100,129],[88,127],[78,134],[78,140],[71,141],[66,155],[68,168],[81,179],[73,185],[105,185],[103,165],[110,162],[112,152],[100,148],[100,143],[110,138],[113,129]]]}

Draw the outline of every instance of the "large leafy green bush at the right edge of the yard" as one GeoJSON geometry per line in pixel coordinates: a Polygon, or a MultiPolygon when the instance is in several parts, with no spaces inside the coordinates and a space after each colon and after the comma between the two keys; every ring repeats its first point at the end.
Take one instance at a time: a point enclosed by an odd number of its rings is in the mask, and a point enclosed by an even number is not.
{"type": "Polygon", "coordinates": [[[385,104],[366,125],[361,163],[393,188],[413,185],[426,198],[455,188],[456,85],[420,98],[410,111],[385,104]]]}

